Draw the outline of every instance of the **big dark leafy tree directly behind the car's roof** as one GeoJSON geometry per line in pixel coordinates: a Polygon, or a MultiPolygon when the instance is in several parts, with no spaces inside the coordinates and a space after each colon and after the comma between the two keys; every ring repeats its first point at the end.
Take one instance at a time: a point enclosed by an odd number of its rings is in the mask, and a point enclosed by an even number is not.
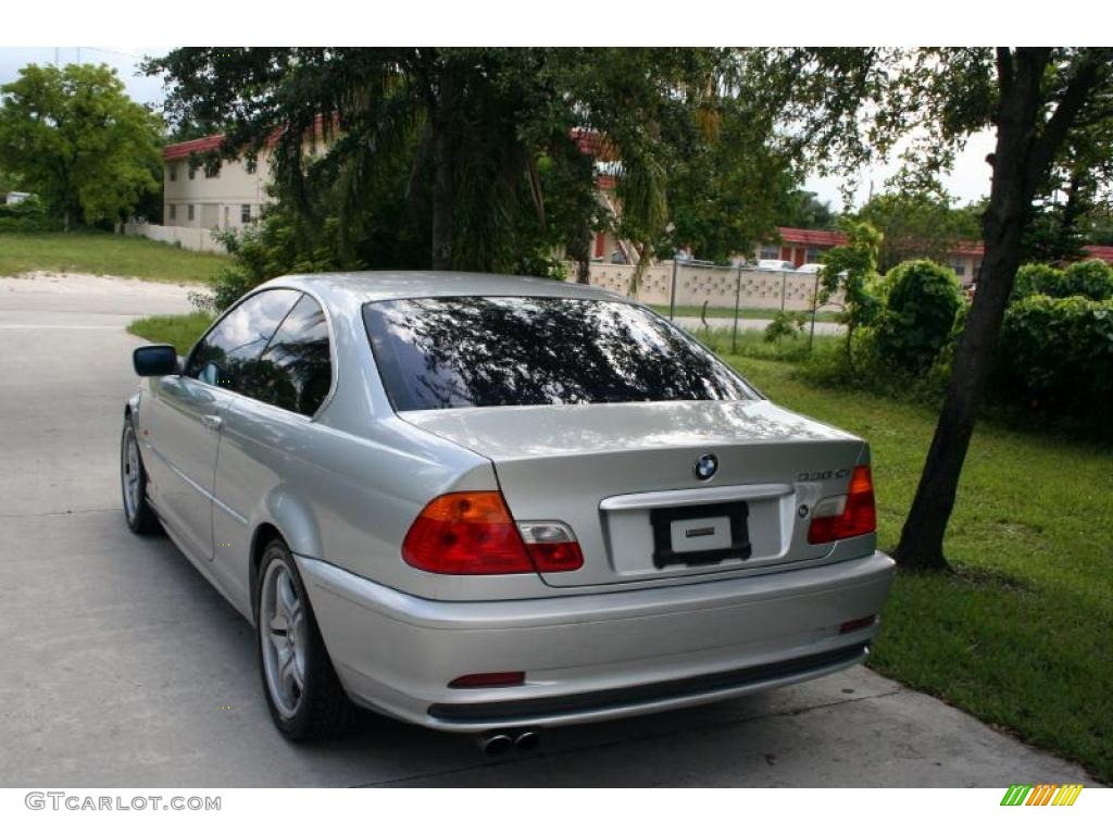
{"type": "Polygon", "coordinates": [[[588,261],[605,219],[584,135],[620,160],[623,234],[647,248],[660,239],[669,141],[705,98],[713,59],[673,49],[211,48],[174,50],[148,69],[167,73],[178,119],[224,126],[225,156],[273,143],[276,193],[298,234],[335,215],[342,262],[359,263],[376,227],[402,222],[425,239],[426,265],[506,272],[554,242],[588,261]]]}

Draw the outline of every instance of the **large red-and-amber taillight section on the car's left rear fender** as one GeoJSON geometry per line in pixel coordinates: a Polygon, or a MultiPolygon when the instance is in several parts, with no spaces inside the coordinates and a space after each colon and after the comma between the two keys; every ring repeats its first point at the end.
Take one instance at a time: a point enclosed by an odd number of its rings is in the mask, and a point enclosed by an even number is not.
{"type": "Polygon", "coordinates": [[[402,559],[437,574],[518,574],[533,563],[502,493],[446,493],[414,520],[402,559]]]}

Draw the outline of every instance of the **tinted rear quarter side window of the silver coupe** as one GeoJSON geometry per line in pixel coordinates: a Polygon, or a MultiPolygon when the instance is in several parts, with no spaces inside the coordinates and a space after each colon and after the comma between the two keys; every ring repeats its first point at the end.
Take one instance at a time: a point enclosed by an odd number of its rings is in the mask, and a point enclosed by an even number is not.
{"type": "Polygon", "coordinates": [[[302,296],[259,357],[252,390],[246,393],[312,416],[325,402],[332,382],[325,314],[312,297],[302,296]]]}

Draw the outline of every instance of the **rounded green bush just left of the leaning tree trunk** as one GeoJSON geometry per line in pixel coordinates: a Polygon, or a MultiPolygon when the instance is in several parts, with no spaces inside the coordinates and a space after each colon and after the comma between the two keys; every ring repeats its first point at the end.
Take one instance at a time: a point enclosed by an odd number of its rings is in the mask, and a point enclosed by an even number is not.
{"type": "Polygon", "coordinates": [[[885,276],[885,310],[877,323],[881,358],[908,372],[932,366],[951,336],[962,305],[953,271],[932,261],[907,261],[885,276]]]}

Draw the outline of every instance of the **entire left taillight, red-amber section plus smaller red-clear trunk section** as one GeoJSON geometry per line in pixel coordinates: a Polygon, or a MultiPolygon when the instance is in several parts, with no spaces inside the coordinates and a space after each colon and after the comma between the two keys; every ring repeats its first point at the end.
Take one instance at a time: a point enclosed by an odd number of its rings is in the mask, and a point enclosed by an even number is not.
{"type": "Polygon", "coordinates": [[[446,493],[431,501],[410,527],[402,559],[437,574],[574,571],[583,564],[568,525],[516,524],[498,490],[446,493]]]}

